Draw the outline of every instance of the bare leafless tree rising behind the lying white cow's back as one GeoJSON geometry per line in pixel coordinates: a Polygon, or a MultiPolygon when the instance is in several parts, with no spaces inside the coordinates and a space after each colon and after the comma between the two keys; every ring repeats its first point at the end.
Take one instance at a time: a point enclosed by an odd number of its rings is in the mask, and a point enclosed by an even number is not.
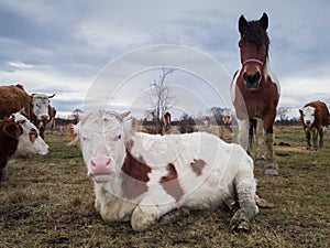
{"type": "Polygon", "coordinates": [[[170,95],[170,88],[166,84],[166,77],[173,74],[175,68],[162,67],[161,75],[155,76],[151,83],[151,90],[146,101],[151,106],[148,115],[152,116],[155,125],[155,133],[162,133],[164,129],[163,116],[173,107],[175,97],[170,95]]]}

